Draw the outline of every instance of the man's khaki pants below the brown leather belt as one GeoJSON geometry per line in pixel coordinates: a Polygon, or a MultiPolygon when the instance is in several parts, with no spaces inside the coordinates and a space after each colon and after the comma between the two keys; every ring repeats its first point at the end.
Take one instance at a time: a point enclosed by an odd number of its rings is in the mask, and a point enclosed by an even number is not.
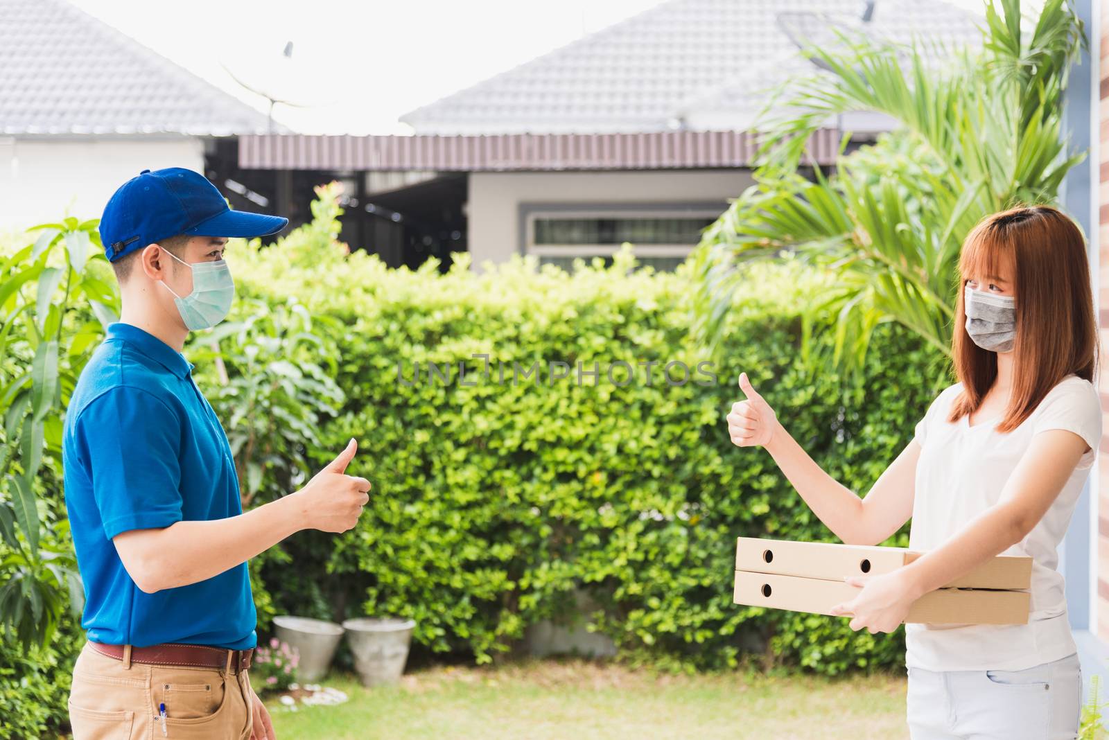
{"type": "Polygon", "coordinates": [[[251,696],[245,670],[129,666],[87,644],[73,667],[73,740],[250,740],[251,696]]]}

